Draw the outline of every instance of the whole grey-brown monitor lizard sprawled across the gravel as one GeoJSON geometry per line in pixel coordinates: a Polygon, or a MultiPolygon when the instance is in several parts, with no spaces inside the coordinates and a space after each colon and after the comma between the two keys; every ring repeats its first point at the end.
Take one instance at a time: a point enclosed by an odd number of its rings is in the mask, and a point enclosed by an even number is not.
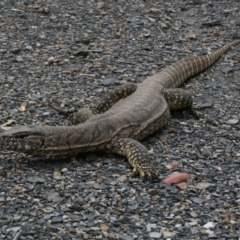
{"type": "Polygon", "coordinates": [[[138,85],[122,85],[94,107],[74,113],[71,126],[20,126],[2,132],[0,150],[51,157],[90,151],[116,153],[127,157],[135,174],[157,178],[160,172],[139,140],[163,127],[170,110],[191,109],[191,94],[177,87],[239,43],[235,40],[207,55],[182,59],[138,85]]]}

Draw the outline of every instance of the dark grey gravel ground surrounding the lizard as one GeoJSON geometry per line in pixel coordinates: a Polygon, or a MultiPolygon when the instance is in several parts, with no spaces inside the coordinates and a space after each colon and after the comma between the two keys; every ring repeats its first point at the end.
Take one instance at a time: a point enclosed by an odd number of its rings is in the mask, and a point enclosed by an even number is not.
{"type": "MultiPolygon", "coordinates": [[[[0,2],[0,123],[64,125],[47,106],[87,106],[239,34],[239,0],[0,2]],[[184,3],[183,3],[184,2],[184,3]],[[47,9],[42,11],[38,5],[47,9]]],[[[126,159],[1,152],[0,239],[240,239],[240,46],[183,88],[200,120],[173,112],[144,141],[172,186],[131,178],[126,159]]]]}

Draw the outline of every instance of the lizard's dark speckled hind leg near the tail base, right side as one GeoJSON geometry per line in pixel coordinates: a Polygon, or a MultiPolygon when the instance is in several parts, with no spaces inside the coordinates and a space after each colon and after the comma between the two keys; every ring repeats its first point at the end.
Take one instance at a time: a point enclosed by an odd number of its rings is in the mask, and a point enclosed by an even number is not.
{"type": "Polygon", "coordinates": [[[183,89],[164,89],[163,97],[165,98],[170,110],[189,109],[190,113],[198,119],[198,114],[193,109],[192,94],[183,89]]]}

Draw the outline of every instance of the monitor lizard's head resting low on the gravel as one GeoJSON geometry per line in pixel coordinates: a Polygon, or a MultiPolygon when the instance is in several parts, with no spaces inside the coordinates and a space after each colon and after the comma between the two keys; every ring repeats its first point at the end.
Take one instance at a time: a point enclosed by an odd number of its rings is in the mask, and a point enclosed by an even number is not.
{"type": "Polygon", "coordinates": [[[44,150],[44,131],[40,127],[22,126],[0,132],[0,150],[38,154],[44,150]]]}

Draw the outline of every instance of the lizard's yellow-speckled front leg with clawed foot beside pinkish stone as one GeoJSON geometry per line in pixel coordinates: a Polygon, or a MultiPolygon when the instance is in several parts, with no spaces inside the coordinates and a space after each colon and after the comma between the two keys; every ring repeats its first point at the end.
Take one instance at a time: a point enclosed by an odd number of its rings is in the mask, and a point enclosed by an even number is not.
{"type": "Polygon", "coordinates": [[[159,177],[159,170],[153,165],[152,159],[144,145],[131,138],[121,138],[110,143],[110,152],[127,157],[133,167],[133,174],[142,179],[159,177]]]}

